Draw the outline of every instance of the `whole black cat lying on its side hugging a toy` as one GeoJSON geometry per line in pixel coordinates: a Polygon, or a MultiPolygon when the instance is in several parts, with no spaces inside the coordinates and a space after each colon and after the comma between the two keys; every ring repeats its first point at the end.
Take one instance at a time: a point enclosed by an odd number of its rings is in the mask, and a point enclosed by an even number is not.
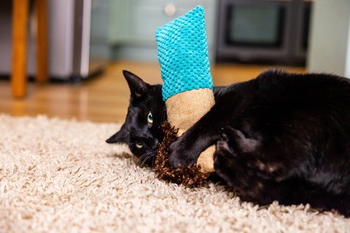
{"type": "MultiPolygon", "coordinates": [[[[127,120],[108,142],[128,143],[152,164],[166,119],[161,86],[124,75],[132,92],[127,120]],[[147,122],[150,112],[153,123],[147,122]]],[[[193,164],[216,144],[216,174],[241,199],[309,203],[350,216],[348,79],[265,71],[247,82],[214,87],[214,96],[209,113],[170,146],[172,166],[193,164]]]]}

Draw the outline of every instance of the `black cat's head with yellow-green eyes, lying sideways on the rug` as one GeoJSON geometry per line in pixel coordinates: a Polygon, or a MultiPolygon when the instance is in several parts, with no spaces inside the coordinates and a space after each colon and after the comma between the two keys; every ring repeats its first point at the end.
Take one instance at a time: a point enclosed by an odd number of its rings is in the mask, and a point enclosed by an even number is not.
{"type": "Polygon", "coordinates": [[[153,166],[158,145],[163,139],[160,124],[167,119],[162,85],[150,85],[129,71],[123,71],[130,88],[130,105],[120,131],[107,143],[126,143],[141,164],[153,166]]]}

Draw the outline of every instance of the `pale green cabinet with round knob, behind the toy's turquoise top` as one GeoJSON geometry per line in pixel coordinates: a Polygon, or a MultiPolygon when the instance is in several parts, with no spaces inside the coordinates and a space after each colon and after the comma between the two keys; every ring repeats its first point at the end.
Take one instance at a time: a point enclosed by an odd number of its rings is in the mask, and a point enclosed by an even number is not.
{"type": "Polygon", "coordinates": [[[113,59],[157,61],[155,30],[197,5],[205,10],[209,57],[215,55],[216,0],[110,0],[113,59]]]}

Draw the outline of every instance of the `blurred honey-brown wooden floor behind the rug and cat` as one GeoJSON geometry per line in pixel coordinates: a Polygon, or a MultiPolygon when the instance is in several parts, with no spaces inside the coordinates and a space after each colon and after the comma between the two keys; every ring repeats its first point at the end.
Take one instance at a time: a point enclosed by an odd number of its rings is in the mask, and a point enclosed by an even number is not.
{"type": "MultiPolygon", "coordinates": [[[[211,66],[214,85],[228,85],[255,78],[267,66],[220,64],[211,66]]],[[[10,82],[0,80],[0,113],[13,116],[45,114],[92,122],[123,122],[130,91],[123,78],[123,69],[132,71],[147,83],[162,83],[157,63],[113,62],[101,75],[78,84],[50,82],[38,85],[29,82],[27,97],[14,99],[10,82]]],[[[304,68],[286,68],[304,72],[304,68]]]]}

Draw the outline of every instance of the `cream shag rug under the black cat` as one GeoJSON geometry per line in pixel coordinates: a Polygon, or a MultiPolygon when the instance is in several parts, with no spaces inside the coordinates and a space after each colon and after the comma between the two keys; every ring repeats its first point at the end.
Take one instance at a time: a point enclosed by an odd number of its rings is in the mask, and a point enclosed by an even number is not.
{"type": "Polygon", "coordinates": [[[0,115],[0,232],[350,232],[336,213],[158,181],[104,142],[119,127],[0,115]]]}

